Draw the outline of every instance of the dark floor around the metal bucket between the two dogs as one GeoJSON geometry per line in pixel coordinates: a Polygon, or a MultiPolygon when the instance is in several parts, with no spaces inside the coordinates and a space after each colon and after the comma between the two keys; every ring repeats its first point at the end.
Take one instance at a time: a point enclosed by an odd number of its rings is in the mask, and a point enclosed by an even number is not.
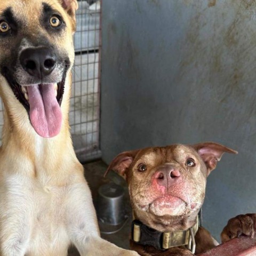
{"type": "Polygon", "coordinates": [[[123,178],[119,177],[113,171],[109,172],[106,178],[103,178],[105,171],[107,170],[107,165],[102,161],[92,162],[84,165],[85,169],[85,178],[89,183],[89,186],[92,191],[93,203],[97,202],[97,193],[98,188],[109,182],[115,182],[118,185],[121,185],[125,190],[125,212],[127,216],[127,221],[124,227],[115,234],[107,235],[102,234],[101,237],[108,240],[111,243],[116,244],[119,247],[123,247],[125,249],[129,249],[129,236],[131,230],[131,222],[132,222],[132,210],[129,200],[128,189],[126,186],[126,182],[123,178]]]}

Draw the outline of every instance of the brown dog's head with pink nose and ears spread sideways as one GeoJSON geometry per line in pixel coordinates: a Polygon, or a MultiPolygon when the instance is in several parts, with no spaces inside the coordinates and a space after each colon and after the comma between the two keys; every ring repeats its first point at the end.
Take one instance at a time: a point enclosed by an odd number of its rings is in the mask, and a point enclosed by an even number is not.
{"type": "Polygon", "coordinates": [[[159,231],[194,221],[205,196],[206,177],[223,153],[235,150],[213,142],[151,147],[119,154],[108,167],[129,186],[134,215],[159,231]]]}

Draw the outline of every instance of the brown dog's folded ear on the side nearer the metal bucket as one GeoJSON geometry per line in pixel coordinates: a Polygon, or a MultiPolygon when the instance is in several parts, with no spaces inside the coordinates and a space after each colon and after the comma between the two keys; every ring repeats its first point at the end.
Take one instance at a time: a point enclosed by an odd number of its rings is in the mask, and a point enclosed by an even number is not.
{"type": "Polygon", "coordinates": [[[109,164],[108,169],[104,174],[104,177],[106,177],[110,170],[113,170],[117,172],[119,175],[121,175],[124,179],[126,179],[126,172],[129,170],[129,167],[138,152],[139,150],[133,150],[126,151],[117,155],[109,164]]]}

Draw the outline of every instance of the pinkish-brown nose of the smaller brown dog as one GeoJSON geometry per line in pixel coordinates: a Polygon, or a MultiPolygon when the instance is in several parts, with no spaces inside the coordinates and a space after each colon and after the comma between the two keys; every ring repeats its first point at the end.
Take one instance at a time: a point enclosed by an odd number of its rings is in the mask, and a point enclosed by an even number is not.
{"type": "Polygon", "coordinates": [[[169,188],[180,179],[180,171],[173,166],[163,166],[154,174],[158,185],[169,188]]]}

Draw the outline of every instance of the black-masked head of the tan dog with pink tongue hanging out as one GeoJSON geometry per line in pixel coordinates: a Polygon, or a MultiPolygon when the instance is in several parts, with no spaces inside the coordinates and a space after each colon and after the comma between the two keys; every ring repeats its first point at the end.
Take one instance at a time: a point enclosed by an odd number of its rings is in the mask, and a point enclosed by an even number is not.
{"type": "Polygon", "coordinates": [[[76,0],[0,1],[0,93],[23,130],[54,137],[68,102],[76,0]]]}

